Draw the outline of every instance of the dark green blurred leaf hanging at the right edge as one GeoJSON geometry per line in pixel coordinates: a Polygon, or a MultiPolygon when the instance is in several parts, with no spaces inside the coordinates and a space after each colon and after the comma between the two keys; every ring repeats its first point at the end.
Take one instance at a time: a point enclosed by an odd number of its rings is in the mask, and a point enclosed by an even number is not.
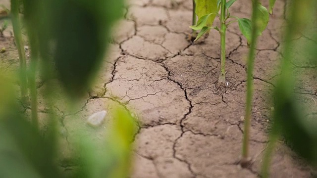
{"type": "Polygon", "coordinates": [[[286,86],[279,81],[275,89],[274,124],[294,151],[317,165],[317,118],[304,117],[286,86]]]}

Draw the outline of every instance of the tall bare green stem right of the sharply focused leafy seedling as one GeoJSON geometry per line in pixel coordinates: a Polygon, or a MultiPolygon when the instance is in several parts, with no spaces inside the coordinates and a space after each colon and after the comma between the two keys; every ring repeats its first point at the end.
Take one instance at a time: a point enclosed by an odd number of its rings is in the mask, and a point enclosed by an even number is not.
{"type": "Polygon", "coordinates": [[[252,113],[252,97],[253,97],[253,67],[255,50],[258,40],[258,5],[259,0],[253,0],[253,13],[252,13],[252,40],[248,55],[248,68],[247,68],[247,98],[246,98],[246,116],[244,121],[244,135],[242,146],[242,160],[241,165],[246,167],[249,165],[249,139],[250,139],[250,127],[251,127],[251,113],[252,113]]]}

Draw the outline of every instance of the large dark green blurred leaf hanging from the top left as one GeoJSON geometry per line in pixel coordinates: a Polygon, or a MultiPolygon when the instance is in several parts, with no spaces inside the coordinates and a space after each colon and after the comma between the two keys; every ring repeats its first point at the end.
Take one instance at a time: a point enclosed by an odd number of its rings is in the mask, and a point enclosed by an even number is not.
{"type": "Polygon", "coordinates": [[[63,15],[55,21],[54,59],[59,79],[71,96],[89,88],[101,66],[112,23],[122,14],[118,6],[122,0],[80,2],[65,0],[63,15]]]}

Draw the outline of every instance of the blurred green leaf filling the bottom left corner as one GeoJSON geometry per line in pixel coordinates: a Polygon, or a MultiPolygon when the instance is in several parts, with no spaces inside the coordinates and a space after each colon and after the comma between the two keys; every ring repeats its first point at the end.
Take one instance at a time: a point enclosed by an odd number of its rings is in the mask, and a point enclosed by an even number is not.
{"type": "Polygon", "coordinates": [[[0,84],[0,177],[61,178],[54,140],[19,114],[12,81],[0,76],[0,84]]]}

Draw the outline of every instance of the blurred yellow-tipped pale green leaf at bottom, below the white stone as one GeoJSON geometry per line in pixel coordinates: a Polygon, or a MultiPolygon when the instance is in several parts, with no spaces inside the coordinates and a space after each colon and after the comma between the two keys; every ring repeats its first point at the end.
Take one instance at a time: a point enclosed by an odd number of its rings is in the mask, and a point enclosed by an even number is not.
{"type": "Polygon", "coordinates": [[[83,170],[75,178],[127,178],[130,174],[132,141],[137,132],[133,117],[117,107],[112,113],[113,127],[109,127],[104,144],[80,136],[83,170]]]}

